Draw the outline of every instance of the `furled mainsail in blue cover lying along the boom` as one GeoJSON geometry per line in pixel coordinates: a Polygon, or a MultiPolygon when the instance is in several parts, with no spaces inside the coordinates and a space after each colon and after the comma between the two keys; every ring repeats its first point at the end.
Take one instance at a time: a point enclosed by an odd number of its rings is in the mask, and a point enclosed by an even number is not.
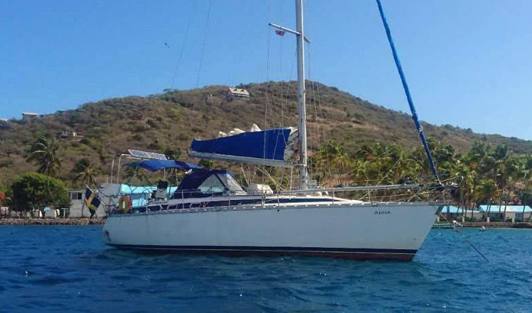
{"type": "MultiPolygon", "coordinates": [[[[256,126],[256,125],[255,125],[256,126]]],[[[295,163],[298,130],[293,127],[230,132],[209,140],[194,139],[189,156],[208,160],[290,167],[295,163]]]]}

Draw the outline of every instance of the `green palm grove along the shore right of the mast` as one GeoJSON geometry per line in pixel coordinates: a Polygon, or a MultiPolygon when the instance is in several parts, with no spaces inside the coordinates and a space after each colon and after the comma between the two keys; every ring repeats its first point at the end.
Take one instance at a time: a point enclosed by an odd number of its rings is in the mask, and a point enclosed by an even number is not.
{"type": "MultiPolygon", "coordinates": [[[[511,153],[505,145],[474,142],[459,153],[451,145],[429,140],[449,198],[463,208],[531,203],[532,155],[511,153]]],[[[426,184],[435,181],[422,147],[404,149],[376,142],[346,153],[329,142],[311,157],[314,178],[322,184],[426,184]]],[[[393,194],[392,194],[393,195],[393,194]]]]}

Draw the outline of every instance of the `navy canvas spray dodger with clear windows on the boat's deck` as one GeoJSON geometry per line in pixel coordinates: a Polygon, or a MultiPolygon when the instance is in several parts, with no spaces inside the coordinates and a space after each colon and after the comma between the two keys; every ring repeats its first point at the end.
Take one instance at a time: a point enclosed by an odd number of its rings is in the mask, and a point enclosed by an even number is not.
{"type": "Polygon", "coordinates": [[[246,194],[230,171],[201,169],[186,175],[172,198],[206,197],[227,192],[238,195],[246,194]]]}

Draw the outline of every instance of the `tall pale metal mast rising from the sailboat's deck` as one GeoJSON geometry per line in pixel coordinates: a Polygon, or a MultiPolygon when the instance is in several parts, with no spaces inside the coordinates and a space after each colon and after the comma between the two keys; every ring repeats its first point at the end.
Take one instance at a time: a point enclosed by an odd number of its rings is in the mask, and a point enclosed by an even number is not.
{"type": "Polygon", "coordinates": [[[303,0],[295,0],[295,42],[298,49],[298,101],[300,139],[300,189],[306,189],[309,173],[306,160],[305,59],[303,32],[303,0]]]}

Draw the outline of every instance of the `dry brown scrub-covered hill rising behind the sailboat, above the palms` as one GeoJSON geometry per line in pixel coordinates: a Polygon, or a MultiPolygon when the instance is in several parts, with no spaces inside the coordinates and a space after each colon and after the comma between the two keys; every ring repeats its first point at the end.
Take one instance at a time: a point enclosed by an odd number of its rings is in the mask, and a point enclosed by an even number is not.
{"type": "MultiPolygon", "coordinates": [[[[58,177],[71,181],[77,160],[89,159],[105,181],[114,155],[126,149],[173,151],[186,158],[192,138],[213,138],[234,127],[249,129],[298,125],[295,82],[267,82],[239,86],[250,101],[225,101],[228,86],[194,90],[167,90],[148,97],[124,97],[85,103],[80,108],[40,116],[33,121],[0,122],[0,183],[21,173],[35,171],[27,153],[41,134],[56,136],[73,129],[79,139],[60,140],[62,166],[58,177]]],[[[335,87],[307,82],[309,149],[335,140],[345,151],[369,142],[419,147],[411,116],[341,92],[335,87]]],[[[458,151],[474,141],[507,145],[513,153],[532,153],[532,142],[500,135],[475,134],[471,129],[422,123],[429,138],[450,144],[458,151]]]]}

